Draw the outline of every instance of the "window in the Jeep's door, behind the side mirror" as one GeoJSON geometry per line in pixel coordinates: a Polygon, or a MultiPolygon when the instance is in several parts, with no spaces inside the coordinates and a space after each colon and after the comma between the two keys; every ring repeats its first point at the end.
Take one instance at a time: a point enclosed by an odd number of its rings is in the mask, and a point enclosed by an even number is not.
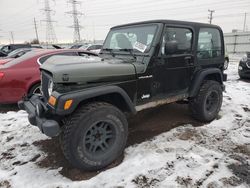
{"type": "Polygon", "coordinates": [[[192,50],[193,33],[188,28],[167,27],[162,39],[163,55],[188,54],[192,50]]]}

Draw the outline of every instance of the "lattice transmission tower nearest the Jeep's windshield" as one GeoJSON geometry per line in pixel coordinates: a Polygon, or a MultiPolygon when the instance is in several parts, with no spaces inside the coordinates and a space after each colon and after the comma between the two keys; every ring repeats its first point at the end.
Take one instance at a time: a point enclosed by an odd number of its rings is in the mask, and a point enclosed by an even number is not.
{"type": "Polygon", "coordinates": [[[72,11],[66,12],[66,14],[70,14],[73,17],[73,25],[69,27],[74,29],[73,41],[77,43],[81,41],[80,30],[82,26],[79,23],[79,17],[82,16],[83,13],[77,11],[76,5],[81,4],[81,2],[77,0],[69,0],[68,2],[72,5],[72,11]]]}

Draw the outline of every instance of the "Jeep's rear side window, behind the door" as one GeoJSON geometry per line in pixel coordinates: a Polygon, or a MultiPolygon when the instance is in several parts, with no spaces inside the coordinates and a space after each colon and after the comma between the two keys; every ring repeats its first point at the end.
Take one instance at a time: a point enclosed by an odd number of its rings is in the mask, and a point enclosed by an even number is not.
{"type": "Polygon", "coordinates": [[[201,28],[199,32],[197,58],[209,59],[221,56],[221,37],[218,29],[201,28]]]}

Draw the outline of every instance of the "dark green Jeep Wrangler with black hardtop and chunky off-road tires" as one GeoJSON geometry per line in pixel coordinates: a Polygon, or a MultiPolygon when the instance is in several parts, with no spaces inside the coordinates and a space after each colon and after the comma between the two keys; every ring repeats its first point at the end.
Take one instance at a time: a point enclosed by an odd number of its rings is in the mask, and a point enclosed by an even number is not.
{"type": "Polygon", "coordinates": [[[42,95],[24,97],[19,108],[44,134],[59,136],[74,167],[98,170],[123,153],[129,114],[185,100],[195,119],[215,119],[227,79],[224,49],[215,25],[116,26],[99,56],[49,58],[40,68],[42,95]]]}

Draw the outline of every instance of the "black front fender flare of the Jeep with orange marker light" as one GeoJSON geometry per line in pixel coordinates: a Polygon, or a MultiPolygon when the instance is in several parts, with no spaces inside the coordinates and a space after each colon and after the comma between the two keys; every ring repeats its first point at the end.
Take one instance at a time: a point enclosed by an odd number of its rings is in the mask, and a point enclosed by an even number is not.
{"type": "Polygon", "coordinates": [[[78,107],[79,103],[81,103],[84,100],[88,100],[91,98],[95,98],[95,97],[103,96],[107,94],[115,94],[115,93],[119,94],[124,99],[130,112],[135,114],[136,113],[135,106],[133,102],[131,101],[131,99],[129,98],[129,96],[127,95],[127,93],[122,88],[120,88],[119,86],[115,86],[115,85],[100,86],[100,87],[84,89],[80,91],[78,90],[78,91],[74,91],[74,92],[66,93],[66,94],[59,94],[57,92],[54,92],[53,96],[55,96],[58,101],[58,104],[56,107],[56,114],[58,115],[71,114],[78,107]],[[72,106],[68,110],[64,110],[64,104],[69,99],[73,100],[72,106]]]}

